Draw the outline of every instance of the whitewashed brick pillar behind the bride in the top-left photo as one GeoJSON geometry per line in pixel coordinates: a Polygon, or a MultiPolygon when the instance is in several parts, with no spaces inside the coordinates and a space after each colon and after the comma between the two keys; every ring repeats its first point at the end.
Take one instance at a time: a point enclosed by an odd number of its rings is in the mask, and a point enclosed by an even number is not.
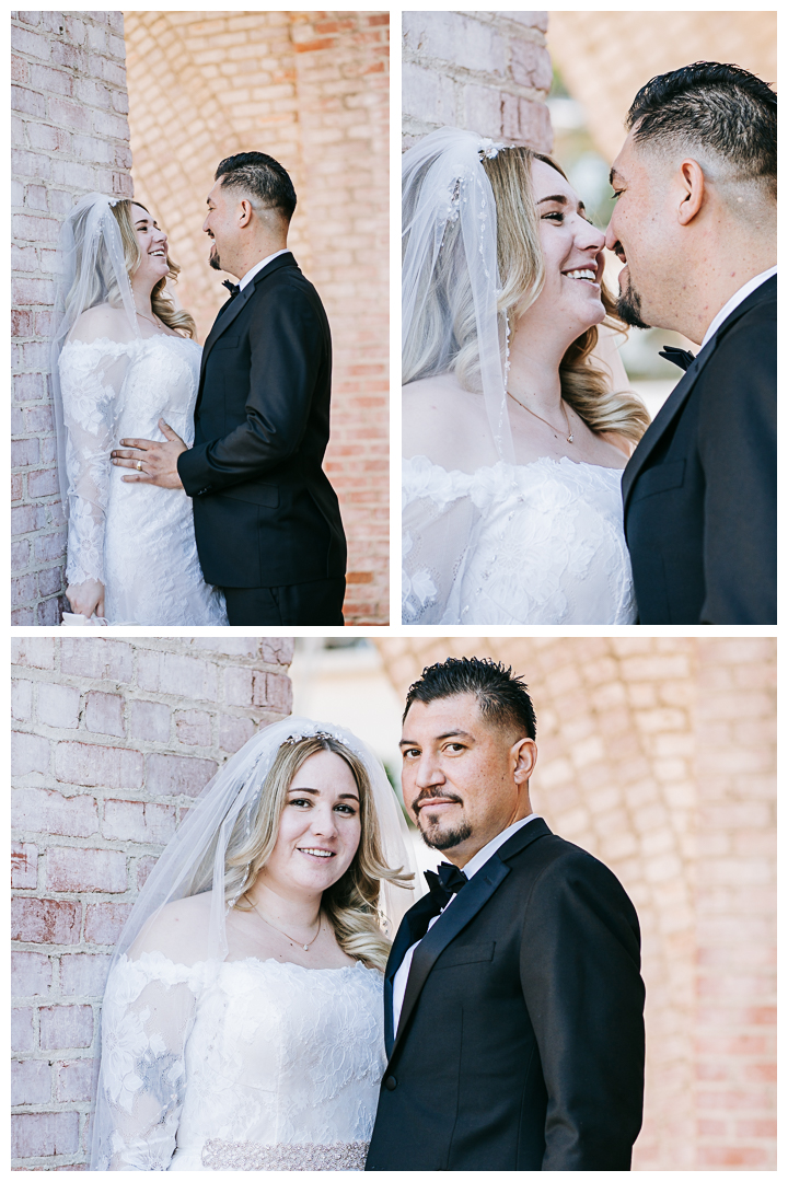
{"type": "Polygon", "coordinates": [[[47,394],[59,222],[131,194],[121,12],[12,13],[12,622],[59,623],[65,527],[47,394]]]}

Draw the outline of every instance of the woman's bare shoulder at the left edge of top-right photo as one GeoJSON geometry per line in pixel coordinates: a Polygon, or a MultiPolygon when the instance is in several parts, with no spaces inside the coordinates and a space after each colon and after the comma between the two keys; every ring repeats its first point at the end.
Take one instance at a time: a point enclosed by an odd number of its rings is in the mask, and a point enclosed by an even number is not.
{"type": "Polygon", "coordinates": [[[487,431],[484,400],[465,390],[454,374],[410,382],[402,391],[403,456],[425,455],[434,463],[456,467],[468,441],[487,431]]]}

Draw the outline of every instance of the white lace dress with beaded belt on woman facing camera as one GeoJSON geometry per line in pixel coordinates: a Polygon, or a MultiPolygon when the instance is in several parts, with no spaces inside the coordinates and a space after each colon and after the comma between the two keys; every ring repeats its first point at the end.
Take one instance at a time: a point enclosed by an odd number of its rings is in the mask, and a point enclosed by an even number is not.
{"type": "Polygon", "coordinates": [[[385,1067],[377,969],[122,956],[102,1025],[112,1128],[95,1168],[364,1169],[385,1067]]]}

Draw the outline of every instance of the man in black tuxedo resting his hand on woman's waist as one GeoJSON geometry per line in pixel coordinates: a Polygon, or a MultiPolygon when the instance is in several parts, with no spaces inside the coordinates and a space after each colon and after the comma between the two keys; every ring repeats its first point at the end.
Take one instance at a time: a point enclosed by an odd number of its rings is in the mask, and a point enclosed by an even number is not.
{"type": "Polygon", "coordinates": [[[229,623],[341,624],[346,546],[323,470],[331,335],[287,249],[295,191],[272,156],[223,160],[203,229],[210,265],[239,279],[202,351],[194,446],[122,440],[136,479],[193,498],[200,563],[229,623]]]}

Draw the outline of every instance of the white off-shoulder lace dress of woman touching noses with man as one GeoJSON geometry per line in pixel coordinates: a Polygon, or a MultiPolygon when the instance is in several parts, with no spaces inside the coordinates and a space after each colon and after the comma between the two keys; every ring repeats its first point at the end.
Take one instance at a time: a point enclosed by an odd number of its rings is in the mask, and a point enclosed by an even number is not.
{"type": "Polygon", "coordinates": [[[632,624],[621,470],[403,466],[404,624],[632,624]]]}

